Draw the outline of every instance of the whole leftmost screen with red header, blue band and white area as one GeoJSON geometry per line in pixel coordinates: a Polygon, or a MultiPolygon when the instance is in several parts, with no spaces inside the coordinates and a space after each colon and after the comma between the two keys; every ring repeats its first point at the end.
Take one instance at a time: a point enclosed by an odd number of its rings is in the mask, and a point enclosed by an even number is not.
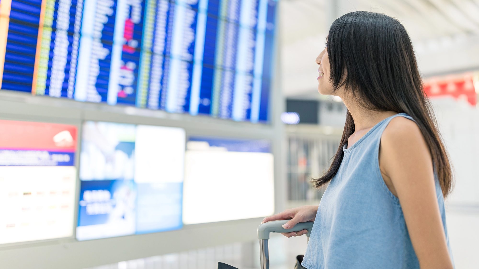
{"type": "Polygon", "coordinates": [[[77,128],[0,120],[0,244],[73,236],[77,128]]]}

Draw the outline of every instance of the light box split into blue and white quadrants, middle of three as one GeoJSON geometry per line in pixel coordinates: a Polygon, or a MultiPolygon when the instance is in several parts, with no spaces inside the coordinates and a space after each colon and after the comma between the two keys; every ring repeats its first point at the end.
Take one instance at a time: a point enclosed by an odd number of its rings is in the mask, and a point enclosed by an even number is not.
{"type": "Polygon", "coordinates": [[[184,150],[181,128],[85,122],[77,239],[181,228],[184,150]]]}

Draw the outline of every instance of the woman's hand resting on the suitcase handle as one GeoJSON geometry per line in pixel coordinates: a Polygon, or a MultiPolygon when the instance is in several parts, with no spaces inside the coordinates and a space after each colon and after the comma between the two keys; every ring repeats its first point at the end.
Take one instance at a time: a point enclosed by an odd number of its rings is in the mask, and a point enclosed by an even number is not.
{"type": "MultiPolygon", "coordinates": [[[[290,221],[286,222],[285,225],[283,225],[283,228],[290,229],[300,222],[314,221],[317,212],[318,212],[317,205],[304,205],[304,206],[299,206],[292,209],[287,209],[276,215],[265,217],[262,223],[274,221],[274,220],[291,219],[290,221]]],[[[307,230],[302,230],[299,232],[282,233],[282,234],[285,237],[299,237],[307,233],[308,233],[307,230]]]]}

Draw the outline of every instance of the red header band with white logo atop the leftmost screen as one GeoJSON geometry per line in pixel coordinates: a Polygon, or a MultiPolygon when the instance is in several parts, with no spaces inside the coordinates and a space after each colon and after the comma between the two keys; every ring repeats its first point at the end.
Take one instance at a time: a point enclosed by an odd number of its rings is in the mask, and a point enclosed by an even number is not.
{"type": "Polygon", "coordinates": [[[75,152],[74,125],[0,120],[0,149],[75,152]]]}

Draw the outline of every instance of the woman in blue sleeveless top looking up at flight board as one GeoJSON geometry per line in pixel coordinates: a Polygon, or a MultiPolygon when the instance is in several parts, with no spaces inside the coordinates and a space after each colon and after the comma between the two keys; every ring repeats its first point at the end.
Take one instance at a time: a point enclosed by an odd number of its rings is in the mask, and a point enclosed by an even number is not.
{"type": "Polygon", "coordinates": [[[341,147],[314,180],[328,188],[319,207],[263,222],[314,221],[301,264],[308,269],[453,268],[444,210],[451,167],[406,30],[357,11],[334,21],[326,41],[316,59],[318,91],[348,108],[341,147]]]}

